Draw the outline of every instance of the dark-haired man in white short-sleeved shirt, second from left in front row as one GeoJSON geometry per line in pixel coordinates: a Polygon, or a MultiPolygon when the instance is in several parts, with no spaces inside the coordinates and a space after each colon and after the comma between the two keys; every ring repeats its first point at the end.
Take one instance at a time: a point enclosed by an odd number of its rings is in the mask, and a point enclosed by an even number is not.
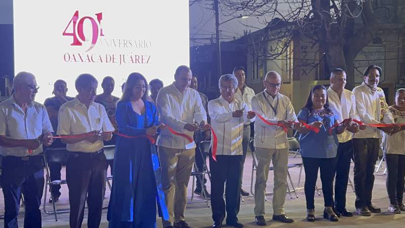
{"type": "Polygon", "coordinates": [[[82,227],[87,199],[88,227],[99,227],[107,178],[103,141],[112,138],[112,126],[102,104],[95,103],[98,82],[93,75],[80,74],[75,81],[77,96],[59,109],[58,135],[69,158],[66,181],[69,188],[70,227],[82,227]]]}

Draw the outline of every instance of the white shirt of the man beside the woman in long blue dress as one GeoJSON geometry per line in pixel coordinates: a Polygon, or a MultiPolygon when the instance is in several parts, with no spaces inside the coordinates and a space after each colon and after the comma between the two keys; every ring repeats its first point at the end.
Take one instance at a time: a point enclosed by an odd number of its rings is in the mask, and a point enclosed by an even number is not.
{"type": "MultiPolygon", "coordinates": [[[[187,134],[193,138],[194,132],[184,129],[186,124],[201,121],[207,122],[207,112],[201,103],[201,97],[194,89],[187,88],[181,93],[173,84],[161,88],[156,98],[159,120],[173,130],[187,134]]],[[[157,137],[156,144],[174,149],[195,148],[195,143],[189,142],[182,136],[172,134],[168,129],[163,130],[157,137]]]]}

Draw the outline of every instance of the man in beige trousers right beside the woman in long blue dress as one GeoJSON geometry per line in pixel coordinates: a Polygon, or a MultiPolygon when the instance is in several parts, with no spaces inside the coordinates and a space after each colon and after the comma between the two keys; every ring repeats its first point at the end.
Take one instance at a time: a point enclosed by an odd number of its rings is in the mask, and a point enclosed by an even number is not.
{"type": "MultiPolygon", "coordinates": [[[[209,129],[207,113],[198,92],[189,88],[192,72],[188,66],[176,69],[175,82],[161,88],[156,98],[160,121],[173,130],[187,134],[191,139],[198,128],[209,129]],[[199,124],[195,124],[195,122],[199,124]]],[[[165,191],[169,220],[164,227],[190,227],[185,222],[187,185],[194,163],[195,142],[165,129],[157,138],[161,162],[161,179],[165,191]]]]}

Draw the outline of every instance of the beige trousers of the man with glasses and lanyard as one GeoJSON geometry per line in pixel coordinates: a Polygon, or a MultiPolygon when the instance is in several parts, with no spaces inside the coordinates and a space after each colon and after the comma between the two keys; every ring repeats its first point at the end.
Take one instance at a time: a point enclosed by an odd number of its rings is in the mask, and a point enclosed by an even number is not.
{"type": "Polygon", "coordinates": [[[255,182],[255,216],[264,215],[264,197],[271,160],[274,167],[273,214],[284,214],[287,194],[288,148],[268,149],[256,147],[258,160],[255,182]]]}

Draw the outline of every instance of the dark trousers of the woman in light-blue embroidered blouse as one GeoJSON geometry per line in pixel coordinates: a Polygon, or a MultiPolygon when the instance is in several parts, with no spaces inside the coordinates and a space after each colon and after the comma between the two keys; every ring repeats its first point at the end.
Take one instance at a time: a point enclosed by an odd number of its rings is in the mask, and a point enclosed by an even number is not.
{"type": "Polygon", "coordinates": [[[333,207],[333,178],[337,161],[337,158],[302,158],[305,170],[304,191],[307,209],[315,209],[314,195],[319,169],[325,207],[333,207]]]}

